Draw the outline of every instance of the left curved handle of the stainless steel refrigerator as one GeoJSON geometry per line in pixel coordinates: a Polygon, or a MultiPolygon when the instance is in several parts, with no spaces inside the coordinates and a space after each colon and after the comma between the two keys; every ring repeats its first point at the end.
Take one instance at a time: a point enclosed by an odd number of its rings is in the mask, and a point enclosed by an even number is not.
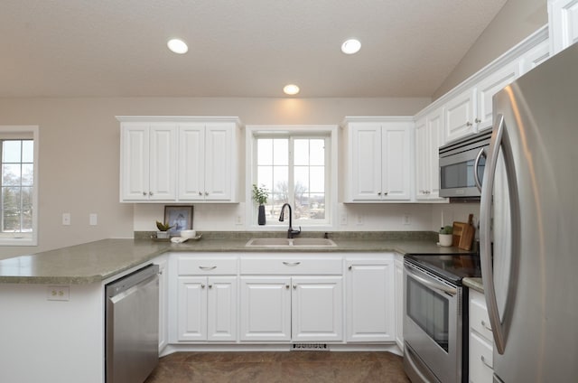
{"type": "Polygon", "coordinates": [[[486,304],[488,306],[489,323],[493,329],[494,343],[499,354],[504,353],[506,341],[504,329],[499,320],[498,302],[496,299],[496,286],[494,284],[494,271],[491,261],[491,238],[489,236],[491,225],[491,204],[494,180],[496,178],[496,167],[502,137],[504,135],[504,116],[496,117],[497,126],[491,136],[489,143],[489,154],[486,161],[484,173],[484,185],[480,198],[480,262],[481,275],[483,276],[484,292],[486,304]]]}

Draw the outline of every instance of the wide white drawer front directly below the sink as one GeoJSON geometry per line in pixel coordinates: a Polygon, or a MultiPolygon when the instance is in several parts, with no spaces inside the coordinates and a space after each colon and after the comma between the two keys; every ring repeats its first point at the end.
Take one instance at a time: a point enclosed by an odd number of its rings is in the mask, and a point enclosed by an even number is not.
{"type": "Polygon", "coordinates": [[[341,258],[275,257],[241,258],[243,275],[341,275],[341,258]]]}

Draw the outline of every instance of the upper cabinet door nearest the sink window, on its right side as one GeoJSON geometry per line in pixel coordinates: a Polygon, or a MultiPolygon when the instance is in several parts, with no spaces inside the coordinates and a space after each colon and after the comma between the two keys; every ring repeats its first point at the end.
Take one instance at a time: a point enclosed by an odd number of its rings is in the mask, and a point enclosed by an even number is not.
{"type": "Polygon", "coordinates": [[[381,125],[350,125],[350,196],[352,201],[381,200],[381,125]]]}

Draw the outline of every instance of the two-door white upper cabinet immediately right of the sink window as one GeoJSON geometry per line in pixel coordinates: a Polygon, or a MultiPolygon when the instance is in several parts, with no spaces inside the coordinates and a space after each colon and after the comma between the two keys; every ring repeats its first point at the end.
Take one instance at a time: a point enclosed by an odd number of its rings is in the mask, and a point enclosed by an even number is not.
{"type": "Polygon", "coordinates": [[[348,122],[345,129],[345,201],[409,201],[413,174],[411,118],[365,118],[363,122],[348,122]]]}

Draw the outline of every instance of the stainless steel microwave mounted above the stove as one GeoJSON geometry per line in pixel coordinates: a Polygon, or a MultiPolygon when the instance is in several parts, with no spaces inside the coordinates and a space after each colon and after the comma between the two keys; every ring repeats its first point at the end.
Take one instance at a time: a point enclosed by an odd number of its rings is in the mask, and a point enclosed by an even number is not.
{"type": "Polygon", "coordinates": [[[440,147],[440,196],[480,198],[491,129],[440,147]]]}

